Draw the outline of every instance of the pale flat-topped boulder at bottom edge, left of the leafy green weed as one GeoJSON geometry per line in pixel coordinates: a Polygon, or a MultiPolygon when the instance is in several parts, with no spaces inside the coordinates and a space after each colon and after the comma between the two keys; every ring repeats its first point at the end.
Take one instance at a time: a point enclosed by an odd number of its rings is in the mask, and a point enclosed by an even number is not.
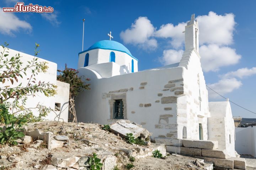
{"type": "Polygon", "coordinates": [[[78,162],[79,158],[74,155],[52,155],[52,165],[58,166],[60,168],[68,168],[75,165],[78,162]]]}

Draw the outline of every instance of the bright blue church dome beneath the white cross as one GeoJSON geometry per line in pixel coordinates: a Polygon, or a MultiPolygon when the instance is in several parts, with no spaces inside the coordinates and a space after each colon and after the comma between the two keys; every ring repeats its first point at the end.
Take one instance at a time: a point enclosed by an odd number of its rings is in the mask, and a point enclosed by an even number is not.
{"type": "MultiPolygon", "coordinates": [[[[117,41],[113,41],[113,40],[112,41],[111,40],[98,41],[94,45],[90,46],[89,49],[87,49],[85,51],[82,51],[80,53],[90,51],[90,50],[94,50],[94,49],[105,49],[105,50],[121,51],[121,52],[125,52],[129,56],[133,57],[132,54],[130,53],[130,51],[123,44],[121,44],[117,41]]],[[[135,57],[133,57],[133,58],[135,60],[137,60],[137,58],[135,58],[135,57]]]]}

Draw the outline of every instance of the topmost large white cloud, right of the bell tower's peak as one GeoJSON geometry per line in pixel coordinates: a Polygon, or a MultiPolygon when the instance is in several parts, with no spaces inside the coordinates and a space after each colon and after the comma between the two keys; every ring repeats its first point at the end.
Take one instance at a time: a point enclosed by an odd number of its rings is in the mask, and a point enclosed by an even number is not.
{"type": "Polygon", "coordinates": [[[210,11],[208,15],[198,16],[199,43],[229,45],[233,42],[235,19],[233,13],[217,15],[210,11]]]}

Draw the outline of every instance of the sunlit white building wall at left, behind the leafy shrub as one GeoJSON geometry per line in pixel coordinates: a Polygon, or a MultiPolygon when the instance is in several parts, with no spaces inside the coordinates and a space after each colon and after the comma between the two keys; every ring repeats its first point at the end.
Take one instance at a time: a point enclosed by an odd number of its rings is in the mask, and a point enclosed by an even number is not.
{"type": "MultiPolygon", "coordinates": [[[[2,47],[0,47],[0,51],[1,52],[3,51],[2,47]]],[[[34,56],[31,56],[31,55],[28,55],[26,53],[22,53],[22,52],[19,52],[19,51],[16,51],[16,50],[12,50],[12,49],[9,50],[9,56],[8,57],[10,58],[12,56],[15,56],[18,53],[20,53],[20,56],[22,56],[20,58],[20,60],[21,60],[21,62],[23,62],[23,66],[24,67],[28,64],[27,61],[31,61],[34,58],[34,56]]],[[[49,82],[51,84],[55,84],[56,85],[57,84],[57,64],[53,63],[53,62],[50,62],[50,61],[47,61],[47,60],[44,60],[42,58],[38,58],[38,61],[39,62],[47,62],[47,65],[48,65],[49,68],[48,68],[46,73],[39,73],[36,76],[36,80],[35,80],[36,83],[38,83],[39,81],[41,81],[41,82],[44,81],[46,83],[49,82]]],[[[14,81],[14,84],[11,85],[11,83],[9,82],[9,85],[11,87],[14,87],[14,86],[17,86],[20,83],[22,83],[22,86],[26,86],[27,82],[28,82],[27,78],[30,78],[30,76],[31,76],[31,70],[28,69],[26,73],[27,73],[27,76],[23,75],[23,79],[21,77],[18,78],[18,83],[16,81],[14,81]]],[[[5,84],[5,86],[6,85],[7,84],[5,84]]],[[[0,86],[2,86],[2,83],[0,83],[0,86]]],[[[61,88],[62,88],[62,86],[58,87],[57,90],[58,91],[62,91],[61,88]]],[[[64,90],[65,93],[69,94],[69,89],[66,89],[66,88],[64,88],[64,89],[65,89],[64,90]]],[[[61,96],[61,94],[58,94],[58,95],[61,96]]],[[[44,94],[37,93],[35,97],[28,96],[28,100],[26,102],[26,106],[25,107],[26,108],[33,108],[38,103],[40,103],[40,104],[42,104],[42,105],[44,105],[46,107],[50,107],[50,108],[54,109],[55,103],[60,103],[60,101],[58,101],[59,99],[61,99],[61,97],[60,98],[54,97],[54,96],[53,97],[46,97],[46,96],[44,96],[44,94]]],[[[39,113],[36,110],[33,110],[33,114],[38,116],[39,113]]],[[[67,111],[63,111],[62,112],[63,118],[65,118],[65,121],[68,121],[67,116],[64,116],[65,114],[68,115],[68,112],[67,111]]],[[[55,120],[55,117],[56,117],[56,115],[54,113],[50,113],[48,115],[47,119],[55,120]]]]}

